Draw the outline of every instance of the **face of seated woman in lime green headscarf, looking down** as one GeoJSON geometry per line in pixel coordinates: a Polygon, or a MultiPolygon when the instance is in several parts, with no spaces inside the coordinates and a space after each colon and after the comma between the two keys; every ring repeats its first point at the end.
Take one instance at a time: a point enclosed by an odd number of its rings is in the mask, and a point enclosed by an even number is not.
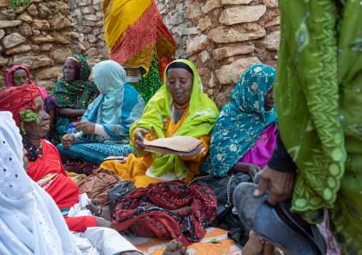
{"type": "Polygon", "coordinates": [[[167,89],[177,104],[187,104],[191,98],[194,77],[182,68],[172,68],[167,72],[167,89]]]}

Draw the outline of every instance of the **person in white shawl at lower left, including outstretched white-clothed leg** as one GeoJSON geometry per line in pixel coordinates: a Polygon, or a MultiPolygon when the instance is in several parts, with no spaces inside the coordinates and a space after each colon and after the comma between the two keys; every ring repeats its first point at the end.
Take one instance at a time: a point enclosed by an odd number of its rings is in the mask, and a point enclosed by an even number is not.
{"type": "Polygon", "coordinates": [[[71,234],[54,200],[26,174],[27,151],[12,114],[0,112],[0,123],[1,255],[143,254],[114,229],[71,234]]]}

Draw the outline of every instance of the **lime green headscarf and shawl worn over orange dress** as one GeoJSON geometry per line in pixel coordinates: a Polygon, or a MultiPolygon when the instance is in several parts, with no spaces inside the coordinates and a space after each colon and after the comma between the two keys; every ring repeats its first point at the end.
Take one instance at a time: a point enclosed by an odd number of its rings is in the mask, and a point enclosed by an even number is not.
{"type": "MultiPolygon", "coordinates": [[[[200,75],[197,73],[196,67],[188,60],[175,60],[174,62],[182,62],[189,65],[194,72],[194,81],[190,98],[189,112],[185,121],[176,132],[175,136],[192,136],[198,138],[209,134],[217,120],[219,110],[216,104],[212,102],[207,94],[202,90],[202,82],[200,75]]],[[[167,70],[167,68],[166,68],[167,70]]],[[[135,121],[130,128],[130,135],[138,128],[148,129],[152,134],[157,134],[157,138],[164,138],[163,122],[171,116],[172,95],[167,89],[167,72],[164,75],[164,84],[157,93],[150,99],[143,111],[143,116],[139,121],[135,121]]],[[[130,146],[135,148],[131,142],[130,146]]],[[[137,151],[138,156],[145,156],[148,153],[137,151]]],[[[161,176],[171,170],[175,170],[175,175],[179,180],[187,177],[188,169],[185,162],[174,154],[166,154],[160,156],[152,153],[153,164],[150,167],[154,175],[161,176]]]]}

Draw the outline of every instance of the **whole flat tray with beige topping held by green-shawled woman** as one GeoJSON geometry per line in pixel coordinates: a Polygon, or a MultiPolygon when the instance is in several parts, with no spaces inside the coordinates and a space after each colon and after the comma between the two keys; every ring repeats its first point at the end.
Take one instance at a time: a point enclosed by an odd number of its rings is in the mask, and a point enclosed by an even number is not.
{"type": "Polygon", "coordinates": [[[175,154],[183,157],[197,156],[206,148],[202,141],[192,136],[174,136],[153,141],[143,140],[144,151],[160,154],[175,154]]]}

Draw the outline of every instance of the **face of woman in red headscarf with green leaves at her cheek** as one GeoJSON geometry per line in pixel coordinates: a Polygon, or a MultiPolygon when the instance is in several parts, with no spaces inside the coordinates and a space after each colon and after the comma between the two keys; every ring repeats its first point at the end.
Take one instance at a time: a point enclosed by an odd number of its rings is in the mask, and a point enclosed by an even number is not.
{"type": "Polygon", "coordinates": [[[36,104],[36,110],[33,110],[35,114],[39,116],[39,124],[35,121],[24,122],[25,136],[27,139],[41,139],[46,136],[49,130],[49,115],[44,111],[43,100],[41,97],[34,98],[36,104]]]}

